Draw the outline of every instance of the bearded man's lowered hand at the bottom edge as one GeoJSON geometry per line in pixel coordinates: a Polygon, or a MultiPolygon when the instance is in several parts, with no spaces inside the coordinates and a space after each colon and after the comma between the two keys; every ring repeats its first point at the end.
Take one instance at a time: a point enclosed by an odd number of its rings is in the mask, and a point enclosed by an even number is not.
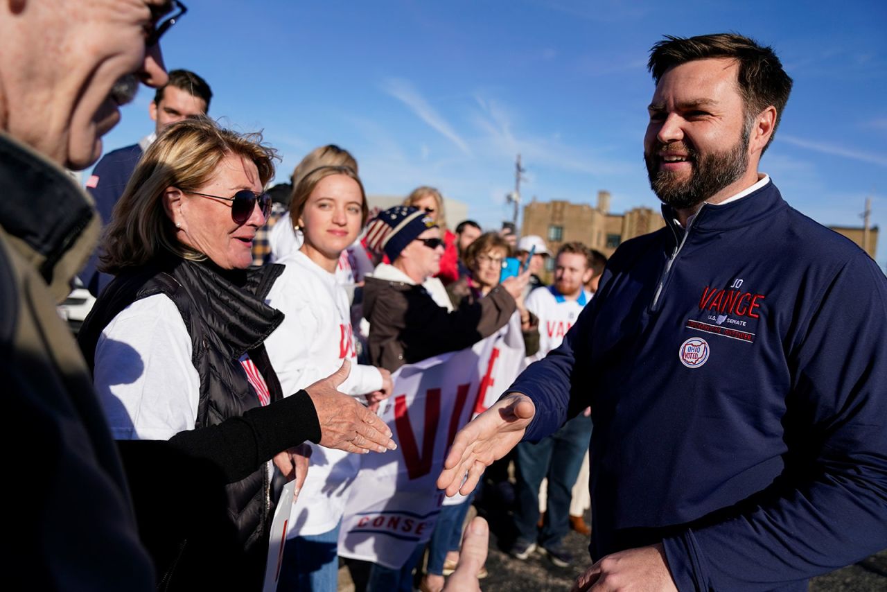
{"type": "Polygon", "coordinates": [[[662,544],[602,557],[580,575],[572,592],[678,592],[662,544]]]}

